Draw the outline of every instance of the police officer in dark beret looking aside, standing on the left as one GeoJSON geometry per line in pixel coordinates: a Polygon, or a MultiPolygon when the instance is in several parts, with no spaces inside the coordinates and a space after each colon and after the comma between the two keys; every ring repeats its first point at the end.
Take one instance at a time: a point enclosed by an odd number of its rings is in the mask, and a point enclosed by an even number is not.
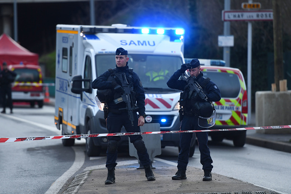
{"type": "MultiPolygon", "coordinates": [[[[120,93],[121,87],[115,80],[108,80],[108,78],[113,73],[125,73],[126,80],[129,83],[129,86],[132,89],[133,101],[138,106],[139,118],[137,113],[134,113],[133,126],[132,122],[129,120],[127,110],[121,111],[126,107],[124,102],[115,104],[113,100],[106,102],[108,106],[108,116],[106,119],[106,127],[109,133],[119,133],[121,132],[121,127],[124,126],[127,132],[141,132],[140,126],[145,124],[145,92],[142,85],[142,82],[139,76],[128,68],[127,50],[118,48],[116,50],[116,67],[114,72],[111,69],[101,74],[97,79],[92,82],[92,88],[98,90],[104,89],[113,89],[113,94],[120,93]]],[[[150,167],[150,159],[143,142],[141,135],[132,135],[129,136],[130,143],[133,143],[137,149],[138,157],[141,162],[141,165],[145,167],[145,176],[148,181],[156,180],[155,176],[150,167]]],[[[108,145],[107,145],[107,160],[106,168],[108,169],[107,179],[105,185],[115,183],[115,167],[117,165],[117,147],[118,142],[121,140],[120,136],[109,136],[108,145]]]]}

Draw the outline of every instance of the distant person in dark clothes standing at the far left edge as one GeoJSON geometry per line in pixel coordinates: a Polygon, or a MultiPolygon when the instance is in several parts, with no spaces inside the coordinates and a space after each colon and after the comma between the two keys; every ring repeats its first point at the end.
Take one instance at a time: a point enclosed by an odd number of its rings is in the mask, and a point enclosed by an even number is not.
{"type": "Polygon", "coordinates": [[[10,113],[12,114],[13,104],[12,104],[12,91],[11,83],[16,77],[16,73],[8,70],[7,63],[3,62],[3,71],[0,73],[0,95],[2,98],[3,110],[1,113],[6,113],[6,106],[10,108],[10,113]],[[7,99],[6,99],[7,96],[7,99]]]}

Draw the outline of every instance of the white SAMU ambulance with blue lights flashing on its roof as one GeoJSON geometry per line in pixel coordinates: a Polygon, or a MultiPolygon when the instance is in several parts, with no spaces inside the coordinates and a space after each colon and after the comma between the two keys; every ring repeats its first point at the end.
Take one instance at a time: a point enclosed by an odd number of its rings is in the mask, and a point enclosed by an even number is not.
{"type": "MultiPolygon", "coordinates": [[[[136,72],[145,89],[145,123],[160,123],[161,131],[177,131],[179,121],[178,90],[167,81],[184,63],[184,29],[112,26],[56,26],[56,79],[54,121],[62,135],[108,133],[103,105],[95,100],[97,90],[91,83],[113,69],[115,51],[128,51],[128,66],[136,72]],[[164,72],[158,79],[151,72],[164,72]]],[[[122,128],[121,132],[125,132],[122,128]]],[[[161,146],[179,146],[180,134],[161,135],[161,146]]],[[[74,145],[74,138],[62,139],[64,146],[74,145]]],[[[88,156],[98,156],[107,147],[107,137],[86,138],[88,156]]],[[[119,145],[128,146],[121,136],[119,145]]],[[[191,153],[194,154],[192,142],[191,153]]]]}

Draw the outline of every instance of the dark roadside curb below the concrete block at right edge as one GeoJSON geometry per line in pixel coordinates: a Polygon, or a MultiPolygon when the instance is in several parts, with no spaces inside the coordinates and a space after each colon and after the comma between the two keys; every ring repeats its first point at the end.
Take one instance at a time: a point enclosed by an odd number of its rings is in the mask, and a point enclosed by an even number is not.
{"type": "Polygon", "coordinates": [[[254,137],[249,137],[249,136],[246,136],[245,143],[250,144],[250,145],[265,147],[268,149],[274,149],[278,151],[291,153],[291,144],[289,143],[274,142],[274,141],[269,141],[269,140],[265,140],[261,138],[254,138],[254,137]]]}

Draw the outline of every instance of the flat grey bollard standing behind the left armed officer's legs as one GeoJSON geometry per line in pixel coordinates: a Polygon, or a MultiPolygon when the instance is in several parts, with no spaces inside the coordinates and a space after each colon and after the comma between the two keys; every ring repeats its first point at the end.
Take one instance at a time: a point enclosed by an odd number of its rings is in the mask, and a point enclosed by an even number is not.
{"type": "MultiPolygon", "coordinates": [[[[141,132],[151,132],[151,131],[160,131],[160,123],[145,123],[144,126],[141,126],[141,132]]],[[[152,135],[142,135],[143,141],[145,142],[145,147],[147,149],[147,153],[150,159],[150,167],[152,167],[153,159],[157,155],[161,155],[161,135],[160,134],[152,134],[152,135]]],[[[129,138],[128,138],[129,139],[129,138]]],[[[138,159],[137,151],[133,144],[129,143],[129,155],[134,156],[138,159]]],[[[144,166],[141,165],[137,169],[144,169],[144,166]]]]}

